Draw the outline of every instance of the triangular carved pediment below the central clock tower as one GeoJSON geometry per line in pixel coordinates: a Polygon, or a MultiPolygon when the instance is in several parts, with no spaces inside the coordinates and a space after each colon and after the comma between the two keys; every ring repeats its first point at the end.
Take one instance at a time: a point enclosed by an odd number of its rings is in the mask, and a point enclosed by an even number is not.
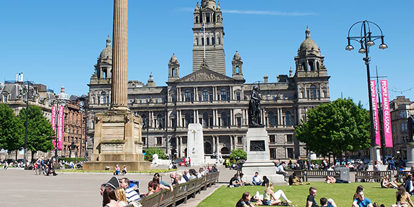
{"type": "Polygon", "coordinates": [[[196,72],[191,73],[190,75],[186,75],[181,79],[175,81],[176,83],[179,82],[198,82],[198,81],[234,81],[235,79],[227,77],[225,75],[221,75],[218,72],[214,72],[213,70],[208,70],[207,68],[201,68],[196,72]]]}

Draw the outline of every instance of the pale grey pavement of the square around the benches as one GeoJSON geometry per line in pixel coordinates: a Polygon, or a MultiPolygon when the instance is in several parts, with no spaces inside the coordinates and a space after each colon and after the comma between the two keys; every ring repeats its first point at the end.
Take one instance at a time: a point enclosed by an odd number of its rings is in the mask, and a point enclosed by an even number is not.
{"type": "MultiPolygon", "coordinates": [[[[178,168],[179,171],[185,169],[189,168],[178,168]]],[[[217,188],[228,185],[230,178],[237,172],[221,166],[218,169],[220,170],[219,184],[201,191],[195,198],[188,199],[187,204],[180,204],[179,206],[197,206],[206,197],[214,193],[217,188]]],[[[164,173],[161,176],[164,181],[170,183],[168,174],[164,173]]],[[[351,172],[351,181],[355,180],[354,174],[351,172]]],[[[99,206],[102,202],[99,188],[112,176],[112,172],[60,172],[59,175],[54,177],[51,175],[36,175],[32,170],[17,168],[0,170],[0,206],[99,206]]],[[[117,177],[122,178],[124,176],[119,175],[117,177]]],[[[128,173],[125,177],[130,180],[141,181],[139,185],[141,193],[147,192],[148,181],[152,180],[152,174],[148,173],[128,173]]],[[[246,178],[246,181],[250,181],[250,178],[246,178]]],[[[323,179],[310,179],[309,181],[323,181],[323,179]]]]}

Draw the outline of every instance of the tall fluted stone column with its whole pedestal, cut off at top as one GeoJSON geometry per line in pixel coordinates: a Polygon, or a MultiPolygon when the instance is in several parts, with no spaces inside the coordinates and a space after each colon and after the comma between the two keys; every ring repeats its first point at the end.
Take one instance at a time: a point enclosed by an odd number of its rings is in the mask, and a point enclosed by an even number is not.
{"type": "Polygon", "coordinates": [[[83,170],[105,170],[126,165],[128,170],[148,170],[141,142],[142,119],[128,108],[128,0],[114,0],[112,96],[110,109],[95,115],[91,161],[83,170]]]}

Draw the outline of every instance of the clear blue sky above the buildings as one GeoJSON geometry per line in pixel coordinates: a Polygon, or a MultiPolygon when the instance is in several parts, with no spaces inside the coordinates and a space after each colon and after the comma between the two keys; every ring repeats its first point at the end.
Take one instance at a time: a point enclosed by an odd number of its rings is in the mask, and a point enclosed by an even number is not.
{"type": "MultiPolygon", "coordinates": [[[[168,60],[177,56],[180,77],[192,72],[193,10],[195,1],[129,1],[128,79],[147,82],[150,72],[157,86],[166,86],[168,60]]],[[[331,75],[331,100],[352,97],[368,104],[363,55],[344,50],[353,23],[367,19],[383,30],[388,49],[371,48],[375,66],[388,76],[391,90],[414,87],[413,1],[220,1],[224,22],[226,72],[236,50],[244,61],[247,83],[275,82],[294,68],[293,58],[304,41],[306,25],[325,56],[331,75]],[[369,7],[369,9],[367,8],[369,7]]],[[[15,79],[43,83],[68,94],[88,93],[94,64],[106,37],[112,39],[112,0],[4,1],[0,12],[0,81],[15,79]]],[[[357,30],[355,30],[357,31],[357,30]]],[[[376,31],[374,31],[375,34],[376,31]]],[[[377,33],[376,33],[377,34],[377,33]]],[[[414,89],[390,91],[391,98],[414,100],[414,89]]]]}

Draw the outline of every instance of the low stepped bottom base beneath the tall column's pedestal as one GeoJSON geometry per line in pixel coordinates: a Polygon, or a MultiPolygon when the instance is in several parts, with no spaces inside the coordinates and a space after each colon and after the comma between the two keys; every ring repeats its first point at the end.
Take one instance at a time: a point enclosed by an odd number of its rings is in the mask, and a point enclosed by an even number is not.
{"type": "Polygon", "coordinates": [[[149,161],[86,161],[83,163],[83,170],[106,170],[106,166],[110,167],[110,172],[115,172],[115,166],[119,165],[122,169],[126,166],[128,171],[150,170],[151,163],[149,161]]]}

